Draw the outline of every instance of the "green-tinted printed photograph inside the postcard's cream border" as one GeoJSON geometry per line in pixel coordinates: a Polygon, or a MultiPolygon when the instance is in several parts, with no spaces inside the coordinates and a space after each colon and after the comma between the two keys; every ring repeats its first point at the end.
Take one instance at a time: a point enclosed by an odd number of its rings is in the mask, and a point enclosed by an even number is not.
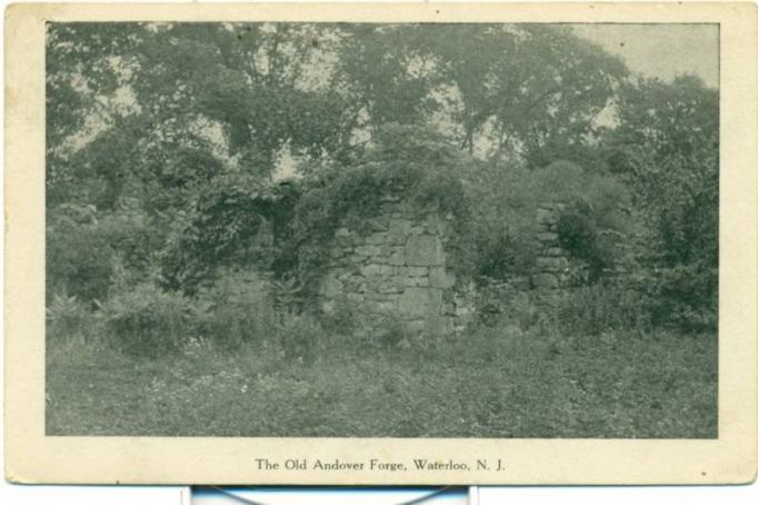
{"type": "Polygon", "coordinates": [[[717,23],[44,44],[47,436],[719,436],[717,23]]]}

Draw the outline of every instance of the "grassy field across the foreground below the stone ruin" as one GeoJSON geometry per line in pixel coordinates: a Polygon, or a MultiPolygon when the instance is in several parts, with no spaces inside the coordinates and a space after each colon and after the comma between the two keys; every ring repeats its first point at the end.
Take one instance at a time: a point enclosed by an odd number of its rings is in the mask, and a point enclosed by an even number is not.
{"type": "Polygon", "coordinates": [[[271,341],[133,358],[50,339],[47,434],[710,438],[717,375],[702,334],[331,337],[308,359],[271,341]]]}

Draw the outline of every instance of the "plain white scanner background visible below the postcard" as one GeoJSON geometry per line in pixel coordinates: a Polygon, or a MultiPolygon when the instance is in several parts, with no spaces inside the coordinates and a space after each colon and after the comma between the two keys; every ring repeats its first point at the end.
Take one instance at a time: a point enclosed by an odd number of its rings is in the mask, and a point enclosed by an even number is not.
{"type": "MultiPolygon", "coordinates": [[[[81,1],[81,0],[80,0],[81,1]]],[[[0,0],[3,10],[10,3],[8,0],[0,0]]],[[[172,2],[178,3],[178,2],[172,2]]],[[[4,39],[4,23],[3,23],[3,39],[4,39]]],[[[2,41],[0,41],[0,46],[2,41]]],[[[3,62],[4,67],[4,62],[3,62]]],[[[4,76],[0,70],[0,77],[4,76]]],[[[2,79],[4,86],[4,77],[2,79]]],[[[0,102],[2,95],[0,95],[0,102]]],[[[4,107],[3,107],[4,117],[4,107]]],[[[0,126],[0,132],[2,126],[0,126]]],[[[4,139],[4,135],[3,135],[4,139]]],[[[4,174],[4,166],[2,168],[4,174]]],[[[3,197],[0,195],[0,208],[4,209],[3,197]]],[[[4,221],[4,219],[3,219],[4,221]]],[[[1,222],[1,221],[0,221],[1,222]]],[[[0,225],[2,227],[3,225],[0,225]]],[[[4,232],[3,232],[4,237],[4,232]]],[[[4,244],[3,244],[4,249],[4,244]]],[[[0,250],[0,258],[2,258],[2,250],[0,250]]],[[[2,273],[0,273],[2,279],[2,273]]],[[[0,303],[2,301],[3,293],[0,293],[0,303]]],[[[4,305],[3,305],[4,307],[4,305]]],[[[1,330],[0,330],[1,331],[1,330]]],[[[0,357],[2,357],[2,349],[0,348],[0,357]]],[[[2,360],[0,360],[2,363],[2,360]]],[[[1,367],[2,365],[0,365],[1,367]]],[[[0,400],[2,393],[0,393],[0,400]]],[[[1,402],[0,402],[1,403],[1,402]]],[[[2,408],[2,407],[0,407],[2,408]]],[[[0,433],[0,444],[2,443],[3,434],[0,433]]],[[[76,464],[76,462],[71,462],[76,464]]],[[[4,468],[4,459],[0,456],[0,466],[4,468]]],[[[329,492],[326,492],[329,493],[329,492]]],[[[706,505],[706,504],[756,504],[758,503],[758,485],[754,483],[750,486],[661,486],[661,487],[481,487],[478,488],[479,504],[495,505],[536,505],[536,504],[602,504],[614,503],[618,505],[637,505],[644,503],[646,505],[666,504],[666,505],[706,505]]],[[[271,499],[269,503],[303,503],[303,504],[326,504],[335,503],[326,496],[321,498],[308,499],[302,493],[290,494],[287,501],[281,498],[285,495],[278,494],[277,499],[271,499]],[[291,501],[290,501],[291,499],[291,501]]],[[[355,496],[355,495],[353,495],[355,496]]],[[[252,497],[252,496],[251,496],[252,497]]],[[[271,498],[275,495],[270,496],[271,498]]],[[[256,494],[256,499],[266,499],[262,494],[256,494]]],[[[332,495],[333,498],[333,495],[332,495]]],[[[459,501],[440,499],[433,503],[458,503],[459,501]]],[[[92,505],[92,504],[108,504],[108,505],[184,505],[189,504],[188,489],[183,487],[157,487],[157,486],[133,486],[133,487],[108,487],[108,486],[20,486],[11,485],[0,481],[0,503],[9,505],[31,505],[31,504],[51,504],[51,505],[92,505]]],[[[210,501],[202,502],[210,504],[210,501]]],[[[235,503],[233,501],[218,501],[213,503],[235,503]]],[[[347,502],[345,502],[347,503],[347,502]]],[[[386,501],[377,501],[375,503],[389,503],[386,501]]]]}

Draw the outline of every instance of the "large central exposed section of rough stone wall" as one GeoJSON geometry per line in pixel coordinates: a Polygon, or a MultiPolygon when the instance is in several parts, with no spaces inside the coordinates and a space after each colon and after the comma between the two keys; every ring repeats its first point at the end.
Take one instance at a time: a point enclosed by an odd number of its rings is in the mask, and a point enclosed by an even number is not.
{"type": "Polygon", "coordinates": [[[456,276],[446,253],[450,219],[435,208],[416,209],[385,197],[381,212],[365,224],[370,232],[342,224],[319,290],[322,309],[349,306],[363,331],[381,331],[393,321],[411,334],[460,328],[465,314],[456,304],[456,276]]]}

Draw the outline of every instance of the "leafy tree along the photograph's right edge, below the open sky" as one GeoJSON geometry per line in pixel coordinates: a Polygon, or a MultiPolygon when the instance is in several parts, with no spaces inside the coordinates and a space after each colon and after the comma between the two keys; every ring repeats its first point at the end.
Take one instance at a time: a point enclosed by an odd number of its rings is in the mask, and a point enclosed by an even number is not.
{"type": "Polygon", "coordinates": [[[619,92],[609,169],[632,188],[651,230],[660,317],[715,324],[718,297],[718,91],[692,77],[641,79],[619,92]],[[665,314],[669,313],[669,314],[665,314]]]}

